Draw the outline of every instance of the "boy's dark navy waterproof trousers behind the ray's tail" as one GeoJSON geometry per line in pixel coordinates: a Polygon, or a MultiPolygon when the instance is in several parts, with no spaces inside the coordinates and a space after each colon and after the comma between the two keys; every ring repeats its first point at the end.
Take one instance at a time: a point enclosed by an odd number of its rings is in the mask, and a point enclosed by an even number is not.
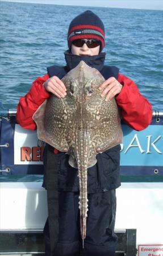
{"type": "MultiPolygon", "coordinates": [[[[88,194],[89,211],[82,249],[78,192],[58,192],[58,242],[53,253],[49,236],[51,222],[44,227],[46,256],[114,256],[118,238],[114,233],[115,190],[88,194]]],[[[52,228],[52,227],[51,227],[52,228]]],[[[51,237],[51,240],[53,238],[51,237]]]]}

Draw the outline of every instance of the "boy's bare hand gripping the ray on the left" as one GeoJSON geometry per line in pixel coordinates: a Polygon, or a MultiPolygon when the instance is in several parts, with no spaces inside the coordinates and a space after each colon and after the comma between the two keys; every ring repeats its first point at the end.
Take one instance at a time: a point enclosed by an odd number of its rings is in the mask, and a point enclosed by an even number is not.
{"type": "Polygon", "coordinates": [[[64,98],[66,96],[66,88],[64,83],[57,77],[52,76],[43,84],[47,92],[55,94],[58,98],[64,98]]]}

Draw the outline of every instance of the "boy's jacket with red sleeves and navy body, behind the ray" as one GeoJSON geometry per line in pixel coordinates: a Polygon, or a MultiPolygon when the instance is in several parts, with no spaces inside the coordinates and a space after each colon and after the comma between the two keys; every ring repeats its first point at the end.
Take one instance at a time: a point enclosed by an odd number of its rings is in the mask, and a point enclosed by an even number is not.
{"type": "MultiPolygon", "coordinates": [[[[71,56],[70,56],[71,57],[71,56]]],[[[70,61],[72,63],[72,60],[70,61]]],[[[73,68],[73,67],[72,67],[73,68]]],[[[121,109],[123,120],[135,130],[145,129],[152,119],[152,107],[148,100],[143,97],[136,84],[128,77],[119,73],[116,67],[107,67],[99,65],[100,72],[108,79],[114,76],[120,84],[123,85],[122,91],[115,97],[118,106],[121,109]],[[102,67],[102,68],[101,68],[102,67]]],[[[71,68],[70,68],[71,69],[71,68]]],[[[30,92],[20,98],[16,120],[26,129],[36,129],[36,123],[32,115],[37,108],[50,96],[44,89],[44,82],[52,76],[58,76],[60,79],[69,71],[69,68],[52,66],[48,68],[48,74],[38,77],[30,92]]],[[[64,153],[59,155],[53,154],[53,148],[47,146],[45,150],[44,166],[45,174],[58,168],[58,190],[59,191],[78,191],[77,169],[70,167],[68,164],[69,156],[64,153]],[[57,157],[57,166],[56,165],[57,157]],[[49,160],[47,160],[47,158],[49,160]]],[[[55,151],[57,153],[57,151],[55,151]]],[[[111,148],[97,155],[97,164],[88,169],[87,191],[88,193],[108,191],[118,188],[119,180],[119,162],[120,162],[120,145],[111,148]]],[[[43,185],[47,187],[46,175],[44,175],[43,185]]]]}

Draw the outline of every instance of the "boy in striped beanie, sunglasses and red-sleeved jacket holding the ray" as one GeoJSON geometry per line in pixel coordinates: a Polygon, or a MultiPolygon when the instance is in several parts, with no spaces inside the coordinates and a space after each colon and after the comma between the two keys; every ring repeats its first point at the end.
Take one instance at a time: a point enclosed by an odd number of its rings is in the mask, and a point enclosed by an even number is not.
{"type": "MultiPolygon", "coordinates": [[[[104,65],[105,28],[102,20],[85,11],[72,20],[68,31],[69,50],[66,67],[52,66],[47,75],[34,81],[30,92],[20,98],[16,119],[26,129],[36,129],[32,115],[51,95],[66,97],[62,77],[84,60],[97,68],[106,81],[99,87],[105,100],[115,97],[124,121],[135,130],[145,129],[152,119],[152,107],[141,96],[135,83],[116,67],[104,65]]],[[[47,145],[44,154],[44,183],[48,195],[48,220],[45,224],[46,255],[80,254],[80,227],[77,169],[68,164],[68,154],[47,145]]],[[[89,211],[85,248],[86,256],[114,256],[117,237],[114,233],[116,196],[119,180],[120,145],[97,155],[97,164],[87,170],[89,211]]]]}

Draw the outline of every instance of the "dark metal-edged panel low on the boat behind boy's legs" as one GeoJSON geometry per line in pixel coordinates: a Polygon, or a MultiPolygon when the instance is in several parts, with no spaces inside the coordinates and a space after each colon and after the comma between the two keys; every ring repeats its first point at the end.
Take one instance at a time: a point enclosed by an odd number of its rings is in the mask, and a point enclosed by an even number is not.
{"type": "MultiPolygon", "coordinates": [[[[115,229],[116,256],[136,256],[136,229],[115,229]]],[[[43,229],[0,229],[0,255],[41,256],[45,253],[43,229]]],[[[81,256],[83,252],[81,250],[81,256]]]]}

